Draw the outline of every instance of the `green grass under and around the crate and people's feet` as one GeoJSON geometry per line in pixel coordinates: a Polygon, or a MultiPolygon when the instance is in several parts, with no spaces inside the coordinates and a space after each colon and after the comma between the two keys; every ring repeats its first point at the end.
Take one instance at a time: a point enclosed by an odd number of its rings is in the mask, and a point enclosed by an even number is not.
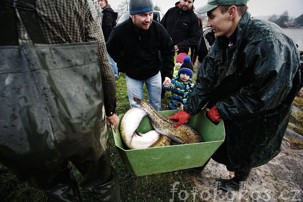
{"type": "MultiPolygon", "coordinates": [[[[194,67],[194,76],[195,78],[195,67],[194,67]]],[[[194,79],[193,79],[194,80],[194,79]]],[[[117,83],[117,108],[116,114],[126,113],[130,109],[130,103],[127,95],[125,74],[121,74],[120,78],[116,79],[117,83]]],[[[166,92],[165,97],[162,101],[162,110],[167,110],[167,103],[170,99],[170,92],[166,92]]],[[[144,87],[144,99],[148,100],[148,93],[146,87],[144,87]]],[[[303,99],[296,97],[294,105],[299,109],[303,109],[303,99]]],[[[300,130],[303,131],[303,118],[297,117],[299,119],[300,130]]],[[[166,173],[151,174],[146,176],[133,176],[126,171],[126,168],[121,160],[121,157],[116,150],[115,143],[113,140],[113,133],[111,130],[107,130],[109,135],[109,144],[110,144],[110,153],[111,153],[111,164],[116,170],[119,181],[120,181],[120,190],[121,190],[121,199],[123,202],[156,202],[156,201],[165,201],[168,202],[172,199],[171,189],[173,183],[179,181],[180,184],[176,186],[177,193],[174,193],[173,201],[181,201],[179,197],[180,190],[186,190],[188,192],[187,200],[182,201],[202,201],[199,196],[196,196],[193,200],[193,195],[190,192],[195,186],[192,182],[194,177],[197,175],[191,171],[177,170],[166,173]]],[[[297,144],[297,143],[296,143],[297,144]]],[[[301,148],[301,146],[294,146],[295,148],[301,148]]],[[[74,167],[71,163],[69,165],[72,173],[76,177],[78,183],[81,183],[83,177],[81,173],[74,167]]],[[[84,202],[93,201],[87,191],[84,191],[79,187],[82,200],[84,202]]],[[[186,198],[184,193],[180,194],[180,198],[186,198]]],[[[44,194],[43,191],[39,189],[32,188],[26,182],[20,182],[14,174],[11,172],[4,173],[0,175],[0,202],[9,201],[9,202],[48,202],[50,201],[44,194]]]]}

